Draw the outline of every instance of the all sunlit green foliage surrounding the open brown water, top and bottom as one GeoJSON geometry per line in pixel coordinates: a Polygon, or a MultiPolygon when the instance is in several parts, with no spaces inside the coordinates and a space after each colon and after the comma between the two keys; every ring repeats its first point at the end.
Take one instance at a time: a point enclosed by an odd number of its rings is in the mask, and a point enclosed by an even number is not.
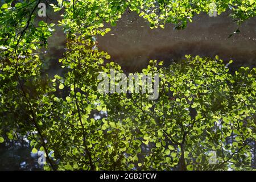
{"type": "MultiPolygon", "coordinates": [[[[66,73],[53,78],[42,76],[36,53],[55,26],[36,21],[40,2],[6,1],[0,9],[0,143],[26,136],[32,152],[46,152],[45,169],[251,169],[255,68],[231,73],[232,61],[218,56],[188,55],[169,67],[151,60],[143,73],[159,74],[158,100],[97,91],[98,73],[123,72],[92,48],[93,36],[111,31],[104,23],[115,26],[130,9],[151,28],[185,28],[195,13],[208,13],[210,1],[58,1],[51,6],[64,9],[59,23],[70,39],[59,60],[66,73]]],[[[256,13],[251,0],[216,5],[218,14],[230,9],[238,26],[256,13]]]]}

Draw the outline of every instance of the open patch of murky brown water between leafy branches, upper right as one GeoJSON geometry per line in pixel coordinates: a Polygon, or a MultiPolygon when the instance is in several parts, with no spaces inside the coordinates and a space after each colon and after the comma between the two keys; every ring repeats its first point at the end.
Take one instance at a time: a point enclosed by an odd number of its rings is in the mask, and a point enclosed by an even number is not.
{"type": "Polygon", "coordinates": [[[232,38],[228,36],[237,30],[237,24],[228,13],[196,15],[185,30],[174,30],[171,24],[164,29],[149,27],[136,13],[126,13],[111,32],[98,36],[98,48],[129,72],[140,71],[151,59],[164,60],[167,65],[186,54],[219,55],[224,60],[233,59],[236,67],[256,65],[256,18],[243,23],[240,34],[232,38]]]}

